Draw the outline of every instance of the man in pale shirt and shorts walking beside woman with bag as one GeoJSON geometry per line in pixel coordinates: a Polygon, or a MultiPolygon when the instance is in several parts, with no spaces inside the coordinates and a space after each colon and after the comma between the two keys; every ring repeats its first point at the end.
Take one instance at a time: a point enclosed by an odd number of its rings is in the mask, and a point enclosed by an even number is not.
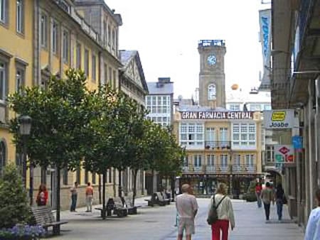
{"type": "Polygon", "coordinates": [[[176,196],[176,210],[178,212],[178,240],[182,240],[183,232],[186,240],[191,240],[191,234],[195,233],[194,219],[198,212],[198,202],[193,196],[192,187],[183,184],[182,194],[176,196]]]}

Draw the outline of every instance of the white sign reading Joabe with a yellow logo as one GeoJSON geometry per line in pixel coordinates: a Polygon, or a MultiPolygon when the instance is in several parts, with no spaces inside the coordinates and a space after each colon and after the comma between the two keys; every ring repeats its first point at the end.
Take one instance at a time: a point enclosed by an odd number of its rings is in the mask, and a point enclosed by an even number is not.
{"type": "Polygon", "coordinates": [[[294,110],[263,111],[263,121],[266,129],[292,129],[294,126],[294,110]]]}

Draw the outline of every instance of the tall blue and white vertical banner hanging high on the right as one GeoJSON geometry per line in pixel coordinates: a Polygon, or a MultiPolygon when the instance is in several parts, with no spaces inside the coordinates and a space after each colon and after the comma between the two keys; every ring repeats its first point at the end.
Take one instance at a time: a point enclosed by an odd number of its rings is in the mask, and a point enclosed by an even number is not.
{"type": "Polygon", "coordinates": [[[271,73],[271,9],[259,11],[260,41],[262,45],[263,73],[261,89],[270,89],[271,73]]]}

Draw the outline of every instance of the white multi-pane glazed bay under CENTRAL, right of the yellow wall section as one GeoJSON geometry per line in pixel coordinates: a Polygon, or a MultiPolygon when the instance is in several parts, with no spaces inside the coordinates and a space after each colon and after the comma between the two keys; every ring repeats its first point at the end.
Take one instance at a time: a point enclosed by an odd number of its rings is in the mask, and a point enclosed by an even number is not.
{"type": "Polygon", "coordinates": [[[233,124],[233,146],[250,148],[255,147],[255,124],[233,124]]]}

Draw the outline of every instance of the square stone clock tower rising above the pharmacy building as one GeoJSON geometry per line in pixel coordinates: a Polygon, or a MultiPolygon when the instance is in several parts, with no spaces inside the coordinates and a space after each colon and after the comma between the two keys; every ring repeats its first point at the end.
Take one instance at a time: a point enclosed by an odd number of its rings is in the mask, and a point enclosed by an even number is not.
{"type": "Polygon", "coordinates": [[[200,40],[199,104],[225,108],[225,40],[200,40]]]}

